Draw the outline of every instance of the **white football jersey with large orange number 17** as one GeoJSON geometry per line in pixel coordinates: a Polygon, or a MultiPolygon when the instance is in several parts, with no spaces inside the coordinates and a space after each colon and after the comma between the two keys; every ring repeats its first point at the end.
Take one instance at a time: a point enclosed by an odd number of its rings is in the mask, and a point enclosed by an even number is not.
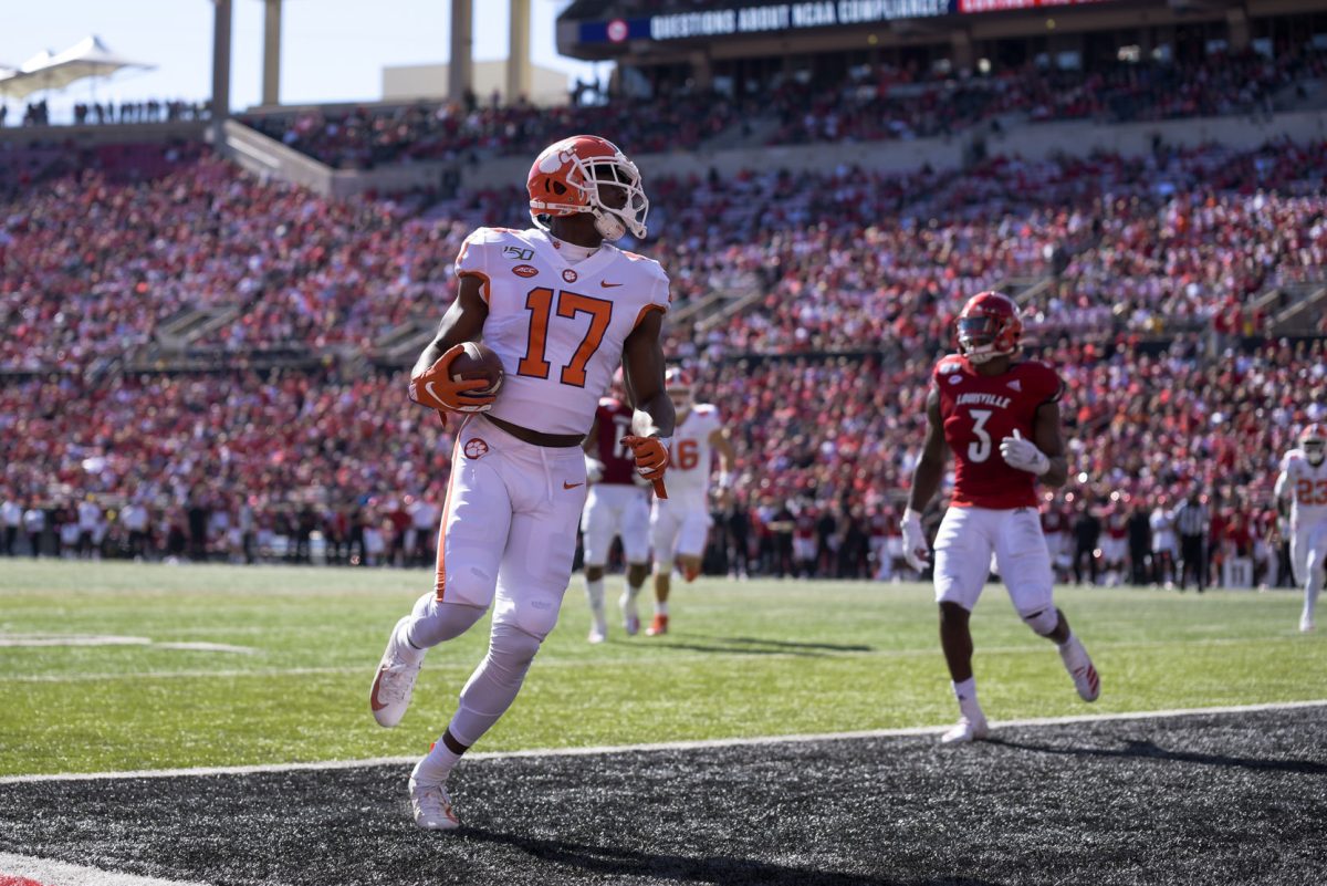
{"type": "Polygon", "coordinates": [[[535,228],[478,228],[460,247],[456,276],[483,281],[483,340],[506,373],[488,414],[545,434],[589,431],[626,337],[669,306],[657,261],[605,243],[571,264],[535,228]]]}

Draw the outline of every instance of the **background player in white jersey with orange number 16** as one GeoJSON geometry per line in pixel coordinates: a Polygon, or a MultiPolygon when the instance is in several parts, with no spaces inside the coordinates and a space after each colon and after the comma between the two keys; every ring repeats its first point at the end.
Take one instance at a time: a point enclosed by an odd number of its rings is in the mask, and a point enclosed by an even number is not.
{"type": "MultiPolygon", "coordinates": [[[[719,492],[733,489],[736,452],[729,430],[711,403],[697,403],[695,382],[686,370],[674,366],[665,381],[667,395],[677,412],[673,462],[669,464],[667,499],[654,499],[650,513],[650,541],[654,545],[654,618],[645,633],[658,637],[667,633],[667,597],[673,588],[673,561],[682,568],[686,581],[701,574],[705,535],[710,528],[711,451],[722,459],[719,492]]],[[[727,501],[725,501],[727,507],[727,501]]]]}

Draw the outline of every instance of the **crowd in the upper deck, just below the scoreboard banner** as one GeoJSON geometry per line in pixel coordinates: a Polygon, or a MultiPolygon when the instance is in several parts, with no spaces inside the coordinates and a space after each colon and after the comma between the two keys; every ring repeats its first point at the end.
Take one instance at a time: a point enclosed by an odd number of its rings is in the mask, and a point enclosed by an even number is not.
{"type": "Polygon", "coordinates": [[[535,154],[564,133],[609,134],[636,154],[690,150],[729,130],[768,145],[872,142],[951,135],[998,118],[1030,122],[1263,115],[1304,97],[1324,56],[1287,49],[1137,60],[1091,69],[1038,64],[998,73],[863,65],[840,78],[775,77],[739,94],[657,85],[649,99],[536,107],[524,101],[357,106],[249,114],[259,131],[337,168],[535,154]]]}

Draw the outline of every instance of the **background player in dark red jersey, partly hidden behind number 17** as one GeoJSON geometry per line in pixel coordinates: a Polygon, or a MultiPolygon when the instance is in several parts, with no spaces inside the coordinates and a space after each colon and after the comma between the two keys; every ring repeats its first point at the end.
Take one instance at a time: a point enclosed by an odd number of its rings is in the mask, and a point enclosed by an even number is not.
{"type": "Polygon", "coordinates": [[[626,581],[618,606],[622,629],[628,637],[641,629],[636,598],[650,574],[650,500],[636,474],[636,459],[622,440],[632,434],[632,407],[614,395],[598,402],[594,424],[585,438],[585,472],[589,496],[581,516],[585,546],[585,596],[589,598],[592,625],[589,642],[608,638],[604,614],[604,566],[613,536],[622,540],[626,558],[626,581]]]}

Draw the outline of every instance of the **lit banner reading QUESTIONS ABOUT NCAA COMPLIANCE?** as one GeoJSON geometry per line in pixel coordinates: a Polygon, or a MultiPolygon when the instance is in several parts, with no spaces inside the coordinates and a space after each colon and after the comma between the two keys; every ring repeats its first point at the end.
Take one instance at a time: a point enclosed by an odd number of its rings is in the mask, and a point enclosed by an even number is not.
{"type": "Polygon", "coordinates": [[[579,23],[579,42],[693,40],[837,28],[905,19],[1067,7],[1109,0],[824,0],[715,5],[713,9],[579,23]]]}

